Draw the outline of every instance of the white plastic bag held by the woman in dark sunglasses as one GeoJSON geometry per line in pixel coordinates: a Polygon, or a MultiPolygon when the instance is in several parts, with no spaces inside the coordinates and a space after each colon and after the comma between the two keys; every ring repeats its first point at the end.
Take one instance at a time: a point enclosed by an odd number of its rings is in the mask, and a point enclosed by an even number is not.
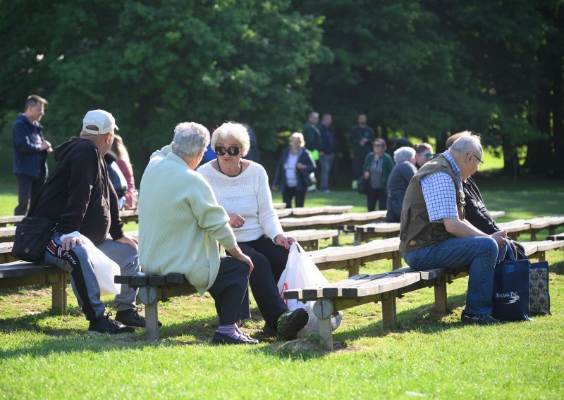
{"type": "MultiPolygon", "coordinates": [[[[283,298],[283,293],[290,289],[300,289],[302,287],[319,287],[329,285],[321,271],[317,268],[311,258],[302,249],[302,246],[295,242],[290,246],[290,255],[286,269],[283,271],[280,280],[278,280],[278,292],[283,298]]],[[[309,322],[298,332],[298,337],[305,337],[310,333],[319,332],[319,319],[313,312],[314,301],[306,301],[303,303],[298,300],[284,300],[290,310],[303,307],[309,314],[309,322]]],[[[339,311],[338,315],[331,317],[331,325],[336,330],[341,325],[343,313],[339,311]]]]}

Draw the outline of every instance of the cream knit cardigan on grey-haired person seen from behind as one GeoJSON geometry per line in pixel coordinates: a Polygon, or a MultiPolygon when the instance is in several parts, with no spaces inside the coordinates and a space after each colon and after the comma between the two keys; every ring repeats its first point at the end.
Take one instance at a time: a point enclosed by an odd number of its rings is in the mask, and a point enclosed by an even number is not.
{"type": "Polygon", "coordinates": [[[183,273],[200,294],[219,270],[219,248],[235,247],[228,216],[212,188],[172,146],[155,151],[139,196],[139,259],[149,275],[183,273]]]}

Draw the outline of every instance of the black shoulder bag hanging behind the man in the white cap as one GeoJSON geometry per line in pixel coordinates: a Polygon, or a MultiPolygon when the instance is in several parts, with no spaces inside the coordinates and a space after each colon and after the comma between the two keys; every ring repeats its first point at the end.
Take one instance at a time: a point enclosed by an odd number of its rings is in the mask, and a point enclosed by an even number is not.
{"type": "Polygon", "coordinates": [[[16,226],[12,256],[23,261],[42,263],[47,242],[51,239],[55,227],[47,218],[23,218],[16,226]]]}

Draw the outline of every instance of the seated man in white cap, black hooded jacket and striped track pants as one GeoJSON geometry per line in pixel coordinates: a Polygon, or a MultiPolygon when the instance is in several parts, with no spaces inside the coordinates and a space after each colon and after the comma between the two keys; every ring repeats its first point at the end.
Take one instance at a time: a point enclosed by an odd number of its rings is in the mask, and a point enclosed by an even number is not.
{"type": "Polygon", "coordinates": [[[30,209],[30,215],[48,218],[56,224],[56,231],[47,244],[45,263],[70,268],[73,291],[90,321],[89,333],[123,333],[145,326],[145,318],[135,310],[136,291],[128,285],[122,285],[120,294],[116,295],[116,320],[105,313],[92,254],[87,246],[82,246],[78,236],[90,239],[97,249],[115,261],[122,275],[135,275],[140,271],[137,239],[123,234],[118,197],[104,161],[116,129],[111,113],[88,111],[82,120],[80,137],[56,147],[56,168],[30,209]],[[107,238],[108,234],[112,239],[107,238]]]}

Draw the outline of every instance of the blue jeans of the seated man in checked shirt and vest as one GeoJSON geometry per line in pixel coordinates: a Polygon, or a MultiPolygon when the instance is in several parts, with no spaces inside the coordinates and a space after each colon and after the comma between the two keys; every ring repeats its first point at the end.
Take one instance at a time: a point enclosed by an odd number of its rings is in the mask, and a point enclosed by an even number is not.
{"type": "Polygon", "coordinates": [[[470,264],[465,312],[477,315],[491,315],[497,257],[498,244],[491,237],[455,237],[403,253],[407,265],[419,271],[461,270],[470,264]]]}

